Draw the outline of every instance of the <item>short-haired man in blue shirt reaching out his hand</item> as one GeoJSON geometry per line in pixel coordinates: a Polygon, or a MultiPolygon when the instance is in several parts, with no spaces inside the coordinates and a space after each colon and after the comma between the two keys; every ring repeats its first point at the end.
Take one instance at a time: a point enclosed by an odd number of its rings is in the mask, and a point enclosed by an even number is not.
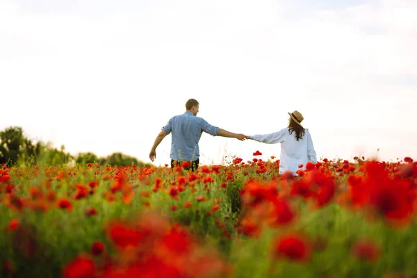
{"type": "Polygon", "coordinates": [[[163,138],[172,132],[171,143],[171,167],[181,165],[184,161],[190,162],[192,171],[197,170],[199,164],[199,146],[198,142],[203,131],[212,136],[222,136],[245,140],[248,137],[243,134],[220,129],[208,124],[202,117],[197,117],[199,112],[199,103],[195,99],[188,99],[186,102],[186,112],[182,115],[172,117],[168,123],[163,126],[161,132],[156,136],[152,146],[149,158],[154,161],[156,158],[156,147],[161,143],[163,138]]]}

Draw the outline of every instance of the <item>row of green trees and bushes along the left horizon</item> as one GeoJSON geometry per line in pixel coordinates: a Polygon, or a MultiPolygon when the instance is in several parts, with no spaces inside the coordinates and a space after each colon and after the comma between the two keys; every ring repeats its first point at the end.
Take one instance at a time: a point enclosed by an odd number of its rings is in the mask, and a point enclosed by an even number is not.
{"type": "Polygon", "coordinates": [[[20,126],[9,126],[0,131],[0,164],[8,166],[19,165],[62,165],[67,163],[98,163],[99,165],[113,165],[121,167],[136,165],[139,167],[149,166],[133,156],[115,152],[106,157],[98,157],[92,152],[72,155],[65,151],[65,146],[60,149],[50,142],[33,141],[24,136],[20,126]]]}

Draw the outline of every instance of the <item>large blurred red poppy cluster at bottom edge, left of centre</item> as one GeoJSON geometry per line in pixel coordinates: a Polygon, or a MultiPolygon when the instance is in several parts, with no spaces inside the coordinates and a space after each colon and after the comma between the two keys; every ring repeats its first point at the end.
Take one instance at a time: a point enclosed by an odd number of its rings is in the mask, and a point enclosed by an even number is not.
{"type": "Polygon", "coordinates": [[[156,213],[115,222],[107,230],[123,260],[109,259],[95,277],[225,277],[230,272],[220,254],[156,213]]]}

